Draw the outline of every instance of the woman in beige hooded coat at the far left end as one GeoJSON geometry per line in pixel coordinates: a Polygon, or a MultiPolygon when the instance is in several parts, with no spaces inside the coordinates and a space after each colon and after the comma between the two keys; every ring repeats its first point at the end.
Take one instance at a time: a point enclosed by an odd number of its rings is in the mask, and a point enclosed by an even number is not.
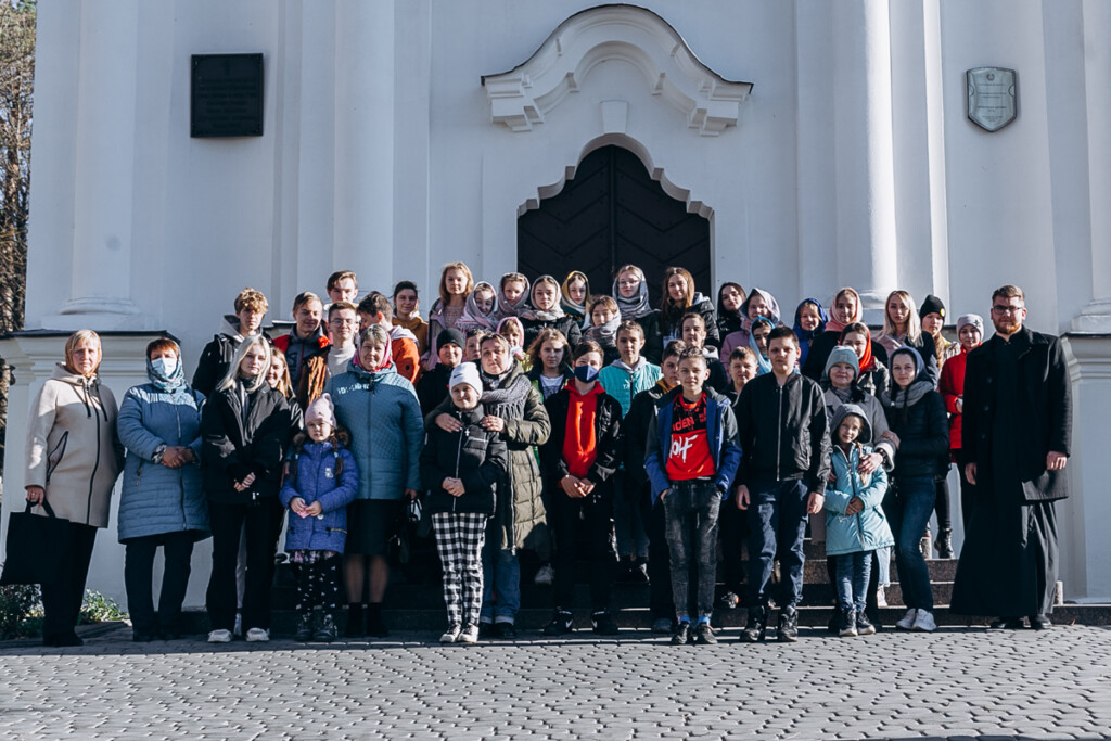
{"type": "Polygon", "coordinates": [[[116,437],[116,398],[100,383],[100,337],[73,332],[31,405],[27,439],[27,501],[69,520],[58,578],[42,584],[42,644],[81,645],[73,631],[89,575],[97,529],[108,527],[112,485],[123,465],[116,437]]]}

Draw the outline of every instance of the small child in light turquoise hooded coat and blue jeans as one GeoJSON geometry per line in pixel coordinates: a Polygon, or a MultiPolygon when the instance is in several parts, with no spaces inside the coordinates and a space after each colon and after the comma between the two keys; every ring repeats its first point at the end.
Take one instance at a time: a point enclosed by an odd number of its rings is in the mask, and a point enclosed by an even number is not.
{"type": "Polygon", "coordinates": [[[839,633],[871,635],[875,627],[864,614],[872,551],[894,544],[883,517],[888,477],[882,468],[861,474],[857,467],[872,452],[868,414],[857,404],[844,404],[833,415],[832,473],[825,488],[825,555],[837,568],[839,633]]]}

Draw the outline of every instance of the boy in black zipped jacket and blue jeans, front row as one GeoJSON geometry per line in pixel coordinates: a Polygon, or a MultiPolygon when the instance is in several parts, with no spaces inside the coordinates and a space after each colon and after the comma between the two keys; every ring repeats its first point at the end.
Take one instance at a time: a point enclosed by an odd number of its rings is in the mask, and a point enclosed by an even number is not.
{"type": "Polygon", "coordinates": [[[780,641],[799,638],[802,541],[807,514],[822,511],[830,472],[829,422],[821,387],[794,371],[799,340],[787,327],[768,334],[772,372],[748,383],[737,400],[744,454],[737,474],[737,507],[749,513],[749,620],[741,640],[763,640],[768,582],[777,554],[784,579],[780,641]],[[809,492],[809,493],[808,493],[809,492]]]}

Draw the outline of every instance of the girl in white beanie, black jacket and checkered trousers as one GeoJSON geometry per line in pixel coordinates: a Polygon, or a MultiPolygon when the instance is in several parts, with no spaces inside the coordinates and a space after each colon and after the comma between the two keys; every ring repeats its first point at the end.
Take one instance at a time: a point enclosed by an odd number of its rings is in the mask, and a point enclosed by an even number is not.
{"type": "Polygon", "coordinates": [[[482,425],[482,380],[474,363],[451,372],[451,415],[457,425],[433,425],[421,453],[421,478],[429,485],[436,547],[443,565],[448,630],[441,643],[476,643],[482,608],[482,545],[494,512],[496,487],[504,479],[509,453],[499,434],[482,425]]]}

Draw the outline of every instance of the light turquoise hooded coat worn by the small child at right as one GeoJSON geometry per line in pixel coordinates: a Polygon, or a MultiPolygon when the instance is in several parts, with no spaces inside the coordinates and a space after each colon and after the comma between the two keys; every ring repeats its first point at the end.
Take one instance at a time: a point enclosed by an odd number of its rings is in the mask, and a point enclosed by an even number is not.
{"type": "Polygon", "coordinates": [[[825,487],[827,555],[874,551],[894,545],[891,528],[880,508],[888,490],[888,474],[882,468],[878,468],[862,481],[862,477],[857,473],[861,457],[871,452],[872,449],[868,445],[853,444],[845,457],[840,445],[833,445],[830,459],[837,483],[825,487]],[[853,497],[860,498],[864,509],[857,514],[845,514],[844,510],[853,497]]]}

